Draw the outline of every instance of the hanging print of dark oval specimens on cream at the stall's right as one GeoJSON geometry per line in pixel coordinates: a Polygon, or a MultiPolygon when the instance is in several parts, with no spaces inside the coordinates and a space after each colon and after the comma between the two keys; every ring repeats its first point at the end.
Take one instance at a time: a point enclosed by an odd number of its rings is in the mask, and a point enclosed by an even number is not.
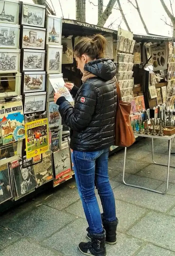
{"type": "Polygon", "coordinates": [[[166,49],[152,51],[152,63],[154,70],[167,69],[166,49]]]}

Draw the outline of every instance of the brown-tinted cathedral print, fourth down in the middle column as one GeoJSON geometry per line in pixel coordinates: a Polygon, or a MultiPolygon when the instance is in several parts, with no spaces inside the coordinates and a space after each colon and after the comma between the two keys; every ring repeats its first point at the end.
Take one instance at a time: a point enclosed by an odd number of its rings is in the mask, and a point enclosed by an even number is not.
{"type": "Polygon", "coordinates": [[[45,91],[45,85],[46,85],[45,71],[22,72],[21,91],[23,93],[45,91]]]}

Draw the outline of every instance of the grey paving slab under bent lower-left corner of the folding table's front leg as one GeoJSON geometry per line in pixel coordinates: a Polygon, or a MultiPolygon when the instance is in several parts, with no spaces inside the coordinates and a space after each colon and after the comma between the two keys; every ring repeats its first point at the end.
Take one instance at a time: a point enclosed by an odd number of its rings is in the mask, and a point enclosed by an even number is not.
{"type": "MultiPolygon", "coordinates": [[[[123,173],[119,173],[116,177],[113,178],[113,180],[123,184],[123,173]]],[[[156,189],[159,185],[162,184],[162,182],[159,180],[140,177],[140,176],[128,174],[128,173],[125,173],[125,182],[129,184],[152,188],[152,189],[156,189]]]]}

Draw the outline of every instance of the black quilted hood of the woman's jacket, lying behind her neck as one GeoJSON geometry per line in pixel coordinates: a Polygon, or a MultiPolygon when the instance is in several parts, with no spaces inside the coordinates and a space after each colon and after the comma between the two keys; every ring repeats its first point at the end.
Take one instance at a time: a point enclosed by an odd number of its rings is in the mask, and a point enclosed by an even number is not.
{"type": "Polygon", "coordinates": [[[93,60],[84,65],[84,70],[104,80],[111,80],[116,75],[116,67],[109,58],[93,60]]]}

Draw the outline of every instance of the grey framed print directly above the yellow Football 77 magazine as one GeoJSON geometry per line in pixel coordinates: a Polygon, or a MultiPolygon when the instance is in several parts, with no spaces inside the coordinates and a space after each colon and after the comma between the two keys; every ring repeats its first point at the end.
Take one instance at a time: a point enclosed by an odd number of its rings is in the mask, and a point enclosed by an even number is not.
{"type": "Polygon", "coordinates": [[[24,94],[24,114],[45,111],[46,92],[24,94]]]}

